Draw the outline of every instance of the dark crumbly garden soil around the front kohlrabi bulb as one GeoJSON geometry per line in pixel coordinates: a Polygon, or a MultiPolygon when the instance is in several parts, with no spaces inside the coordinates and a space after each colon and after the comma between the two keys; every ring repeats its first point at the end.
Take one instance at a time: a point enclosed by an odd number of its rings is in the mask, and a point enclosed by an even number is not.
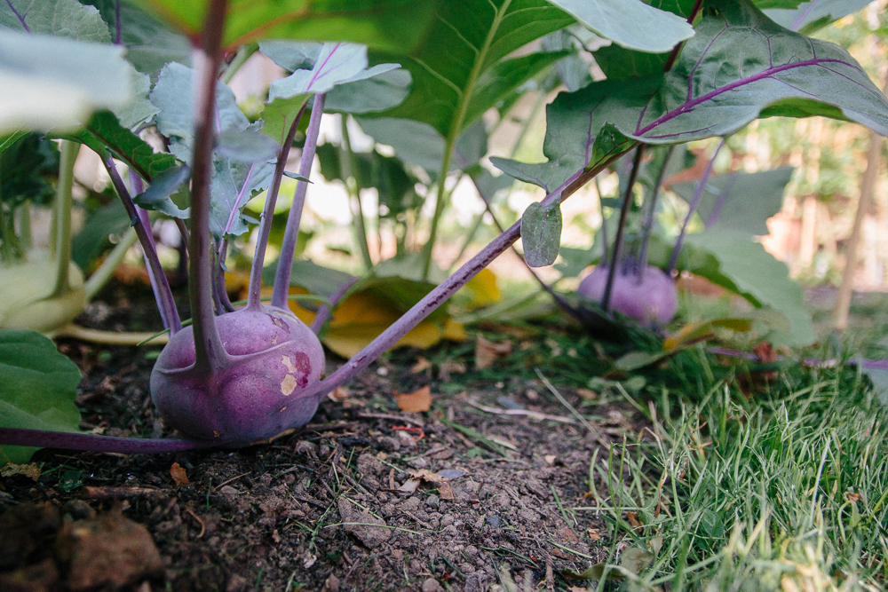
{"type": "MultiPolygon", "coordinates": [[[[91,304],[83,325],[144,323],[149,309],[115,289],[115,307],[91,304]]],[[[605,462],[605,446],[642,430],[644,416],[628,404],[589,407],[596,393],[563,387],[552,373],[563,402],[539,380],[480,380],[475,355],[506,364],[510,346],[472,339],[454,359],[402,351],[377,362],[323,399],[308,426],[271,443],[178,454],[41,450],[30,465],[7,466],[0,589],[586,589],[571,572],[611,549],[590,462],[596,451],[605,462]],[[429,398],[427,412],[401,408],[429,398]]],[[[148,396],[156,349],[59,348],[83,371],[84,430],[176,435],[148,396]]],[[[340,363],[329,359],[328,373],[340,363]]]]}

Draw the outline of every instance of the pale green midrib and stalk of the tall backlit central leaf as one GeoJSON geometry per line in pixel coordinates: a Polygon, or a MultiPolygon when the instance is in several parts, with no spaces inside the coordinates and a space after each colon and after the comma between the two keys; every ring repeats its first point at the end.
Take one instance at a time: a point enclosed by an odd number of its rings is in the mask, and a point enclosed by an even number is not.
{"type": "Polygon", "coordinates": [[[448,136],[444,142],[444,155],[441,158],[441,167],[438,174],[438,192],[435,200],[435,213],[432,216],[432,227],[429,229],[429,238],[423,246],[422,251],[422,280],[427,280],[429,277],[429,269],[432,267],[432,249],[435,246],[435,239],[438,235],[438,224],[440,223],[441,214],[444,212],[444,206],[447,205],[448,201],[445,185],[447,185],[447,174],[448,170],[450,170],[450,159],[453,157],[456,138],[459,138],[459,133],[463,130],[463,122],[465,121],[466,111],[469,109],[469,100],[472,98],[472,91],[475,89],[475,84],[478,83],[478,78],[481,75],[481,67],[483,67],[485,59],[487,59],[490,45],[494,42],[496,32],[499,30],[499,26],[503,22],[505,13],[509,11],[510,4],[511,0],[505,0],[503,5],[496,10],[496,16],[494,17],[493,23],[490,25],[488,36],[485,38],[484,44],[475,56],[475,64],[472,66],[472,72],[469,73],[469,79],[466,81],[465,87],[460,95],[459,106],[456,109],[456,118],[450,123],[450,130],[448,131],[448,136]]]}

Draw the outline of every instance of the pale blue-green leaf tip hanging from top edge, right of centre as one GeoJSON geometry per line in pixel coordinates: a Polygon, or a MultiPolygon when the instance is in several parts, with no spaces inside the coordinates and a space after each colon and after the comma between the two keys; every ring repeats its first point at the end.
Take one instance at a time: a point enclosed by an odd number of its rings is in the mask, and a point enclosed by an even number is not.
{"type": "Polygon", "coordinates": [[[670,51],[694,35],[685,19],[641,0],[551,0],[599,36],[640,51],[670,51]]]}

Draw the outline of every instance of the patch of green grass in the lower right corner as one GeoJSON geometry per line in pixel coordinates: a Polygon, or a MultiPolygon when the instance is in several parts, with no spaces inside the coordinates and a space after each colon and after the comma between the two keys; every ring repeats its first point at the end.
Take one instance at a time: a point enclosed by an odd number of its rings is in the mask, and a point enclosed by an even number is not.
{"type": "Polygon", "coordinates": [[[883,589],[888,422],[868,383],[795,367],[749,397],[686,362],[668,371],[698,392],[662,387],[653,429],[592,459],[596,502],[575,509],[604,513],[612,549],[653,552],[627,588],[883,589]]]}

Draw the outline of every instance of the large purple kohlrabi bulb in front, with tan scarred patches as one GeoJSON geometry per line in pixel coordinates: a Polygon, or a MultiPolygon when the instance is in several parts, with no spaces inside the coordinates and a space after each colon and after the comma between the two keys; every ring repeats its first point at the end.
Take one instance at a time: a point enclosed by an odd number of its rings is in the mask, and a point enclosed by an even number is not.
{"type": "Polygon", "coordinates": [[[319,397],[301,397],[321,379],[324,351],[311,329],[281,308],[259,305],[216,318],[228,361],[198,371],[194,332],[183,328],[151,372],[163,421],[189,438],[243,446],[307,423],[319,397]]]}

